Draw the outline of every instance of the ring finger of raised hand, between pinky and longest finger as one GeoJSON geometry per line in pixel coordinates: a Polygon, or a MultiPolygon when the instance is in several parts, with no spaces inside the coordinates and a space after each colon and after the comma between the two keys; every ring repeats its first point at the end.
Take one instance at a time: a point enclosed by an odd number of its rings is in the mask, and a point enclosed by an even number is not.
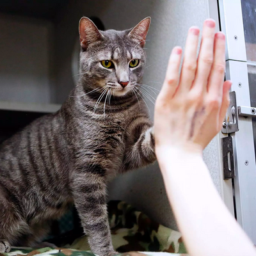
{"type": "Polygon", "coordinates": [[[180,75],[179,92],[188,91],[191,88],[193,80],[195,79],[199,33],[200,30],[196,27],[191,27],[189,29],[184,51],[184,61],[180,75]]]}

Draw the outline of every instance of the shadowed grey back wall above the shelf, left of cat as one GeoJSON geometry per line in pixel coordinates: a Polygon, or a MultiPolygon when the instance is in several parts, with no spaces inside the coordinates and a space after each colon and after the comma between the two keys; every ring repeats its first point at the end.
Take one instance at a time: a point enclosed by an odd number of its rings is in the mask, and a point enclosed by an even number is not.
{"type": "Polygon", "coordinates": [[[1,13],[0,100],[54,102],[52,29],[45,20],[1,13]]]}

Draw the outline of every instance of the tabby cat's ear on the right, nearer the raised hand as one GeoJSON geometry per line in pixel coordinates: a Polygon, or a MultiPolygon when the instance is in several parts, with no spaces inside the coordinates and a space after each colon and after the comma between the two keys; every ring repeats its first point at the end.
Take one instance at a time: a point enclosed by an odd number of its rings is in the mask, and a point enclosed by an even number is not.
{"type": "Polygon", "coordinates": [[[150,26],[150,22],[150,17],[141,20],[141,22],[138,25],[136,25],[129,33],[129,36],[138,43],[140,43],[141,47],[145,45],[145,40],[150,26]]]}

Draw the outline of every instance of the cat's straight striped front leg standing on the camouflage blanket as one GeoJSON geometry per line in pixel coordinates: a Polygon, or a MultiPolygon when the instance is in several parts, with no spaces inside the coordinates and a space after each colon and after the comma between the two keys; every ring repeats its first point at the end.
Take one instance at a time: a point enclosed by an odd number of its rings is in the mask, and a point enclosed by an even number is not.
{"type": "Polygon", "coordinates": [[[116,255],[108,223],[104,169],[99,164],[87,166],[76,173],[72,182],[74,202],[81,224],[93,253],[100,256],[116,255]]]}

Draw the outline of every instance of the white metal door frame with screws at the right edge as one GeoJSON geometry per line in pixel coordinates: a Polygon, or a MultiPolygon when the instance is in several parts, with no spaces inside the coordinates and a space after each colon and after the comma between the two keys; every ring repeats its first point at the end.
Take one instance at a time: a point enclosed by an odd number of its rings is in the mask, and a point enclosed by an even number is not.
{"type": "MultiPolygon", "coordinates": [[[[237,106],[251,106],[241,0],[219,0],[221,31],[226,35],[226,79],[232,81],[237,106]]],[[[232,136],[237,221],[256,244],[256,164],[252,118],[238,116],[239,131],[232,136]]]]}

